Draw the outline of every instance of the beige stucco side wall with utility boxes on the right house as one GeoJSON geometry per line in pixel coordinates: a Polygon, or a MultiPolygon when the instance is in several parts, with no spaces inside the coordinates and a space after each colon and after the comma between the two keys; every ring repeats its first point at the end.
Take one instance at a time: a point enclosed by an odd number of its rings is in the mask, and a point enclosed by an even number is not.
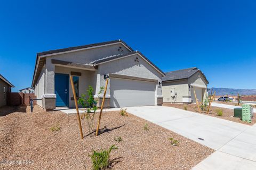
{"type": "Polygon", "coordinates": [[[188,89],[187,80],[163,82],[163,102],[182,103],[182,96],[189,96],[188,89]],[[171,89],[175,89],[177,92],[174,99],[170,95],[171,89]]]}

